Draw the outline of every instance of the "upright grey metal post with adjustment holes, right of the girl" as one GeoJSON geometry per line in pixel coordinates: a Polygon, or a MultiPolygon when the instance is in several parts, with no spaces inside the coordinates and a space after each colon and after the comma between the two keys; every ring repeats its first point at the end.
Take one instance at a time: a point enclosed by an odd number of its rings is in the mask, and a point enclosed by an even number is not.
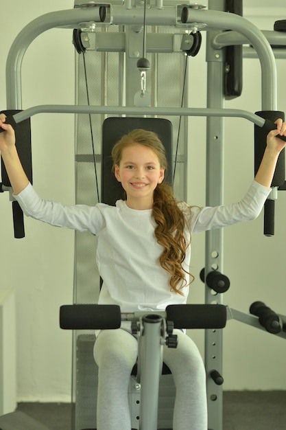
{"type": "MultiPolygon", "coordinates": [[[[208,7],[224,10],[224,1],[209,1],[208,7]],[[215,4],[214,4],[215,3],[215,4]]],[[[211,38],[215,32],[207,34],[207,107],[224,108],[224,50],[213,49],[211,38]]],[[[222,204],[224,190],[224,119],[208,117],[206,122],[206,205],[222,204]]],[[[223,273],[223,230],[206,232],[205,275],[214,269],[223,273]],[[214,266],[215,264],[215,266],[214,266]]],[[[213,300],[222,304],[222,295],[213,296],[205,286],[205,302],[213,300]]],[[[217,370],[222,374],[222,330],[205,332],[206,392],[208,401],[208,428],[222,430],[222,385],[215,385],[210,374],[217,370]]]]}

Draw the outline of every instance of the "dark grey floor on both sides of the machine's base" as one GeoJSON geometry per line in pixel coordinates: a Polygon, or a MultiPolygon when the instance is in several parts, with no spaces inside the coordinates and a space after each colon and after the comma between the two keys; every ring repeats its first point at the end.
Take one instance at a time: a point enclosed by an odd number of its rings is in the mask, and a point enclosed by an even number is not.
{"type": "MultiPolygon", "coordinates": [[[[18,410],[49,430],[71,430],[69,404],[19,403],[18,410]]],[[[223,430],[286,430],[286,391],[224,392],[223,430]]]]}

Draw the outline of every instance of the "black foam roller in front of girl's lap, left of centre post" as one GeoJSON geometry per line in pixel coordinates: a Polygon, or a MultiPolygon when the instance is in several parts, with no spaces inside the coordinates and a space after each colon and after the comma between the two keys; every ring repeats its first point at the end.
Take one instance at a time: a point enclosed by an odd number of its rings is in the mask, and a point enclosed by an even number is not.
{"type": "Polygon", "coordinates": [[[67,304],[60,307],[60,328],[95,330],[119,328],[120,307],[113,304],[67,304]]]}

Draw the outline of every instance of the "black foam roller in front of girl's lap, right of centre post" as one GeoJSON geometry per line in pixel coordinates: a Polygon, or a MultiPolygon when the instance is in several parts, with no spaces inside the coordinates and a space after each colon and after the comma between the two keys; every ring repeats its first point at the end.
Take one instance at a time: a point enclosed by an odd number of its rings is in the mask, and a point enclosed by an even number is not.
{"type": "Polygon", "coordinates": [[[174,328],[224,328],[226,306],[222,304],[175,304],[166,308],[174,328]]]}

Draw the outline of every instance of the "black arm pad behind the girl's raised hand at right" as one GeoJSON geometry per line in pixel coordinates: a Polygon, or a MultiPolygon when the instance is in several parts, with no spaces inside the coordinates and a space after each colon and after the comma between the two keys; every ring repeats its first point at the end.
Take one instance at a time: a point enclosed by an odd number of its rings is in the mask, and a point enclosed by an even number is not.
{"type": "MultiPolygon", "coordinates": [[[[261,159],[266,148],[267,134],[271,130],[276,129],[276,124],[274,124],[274,122],[278,120],[278,118],[282,118],[283,121],[285,119],[285,114],[281,111],[259,111],[256,112],[256,115],[264,118],[265,124],[263,127],[254,125],[254,174],[257,174],[257,170],[259,169],[261,159]]],[[[285,182],[284,152],[285,150],[283,149],[278,157],[274,177],[272,179],[272,187],[279,187],[285,182]]]]}

